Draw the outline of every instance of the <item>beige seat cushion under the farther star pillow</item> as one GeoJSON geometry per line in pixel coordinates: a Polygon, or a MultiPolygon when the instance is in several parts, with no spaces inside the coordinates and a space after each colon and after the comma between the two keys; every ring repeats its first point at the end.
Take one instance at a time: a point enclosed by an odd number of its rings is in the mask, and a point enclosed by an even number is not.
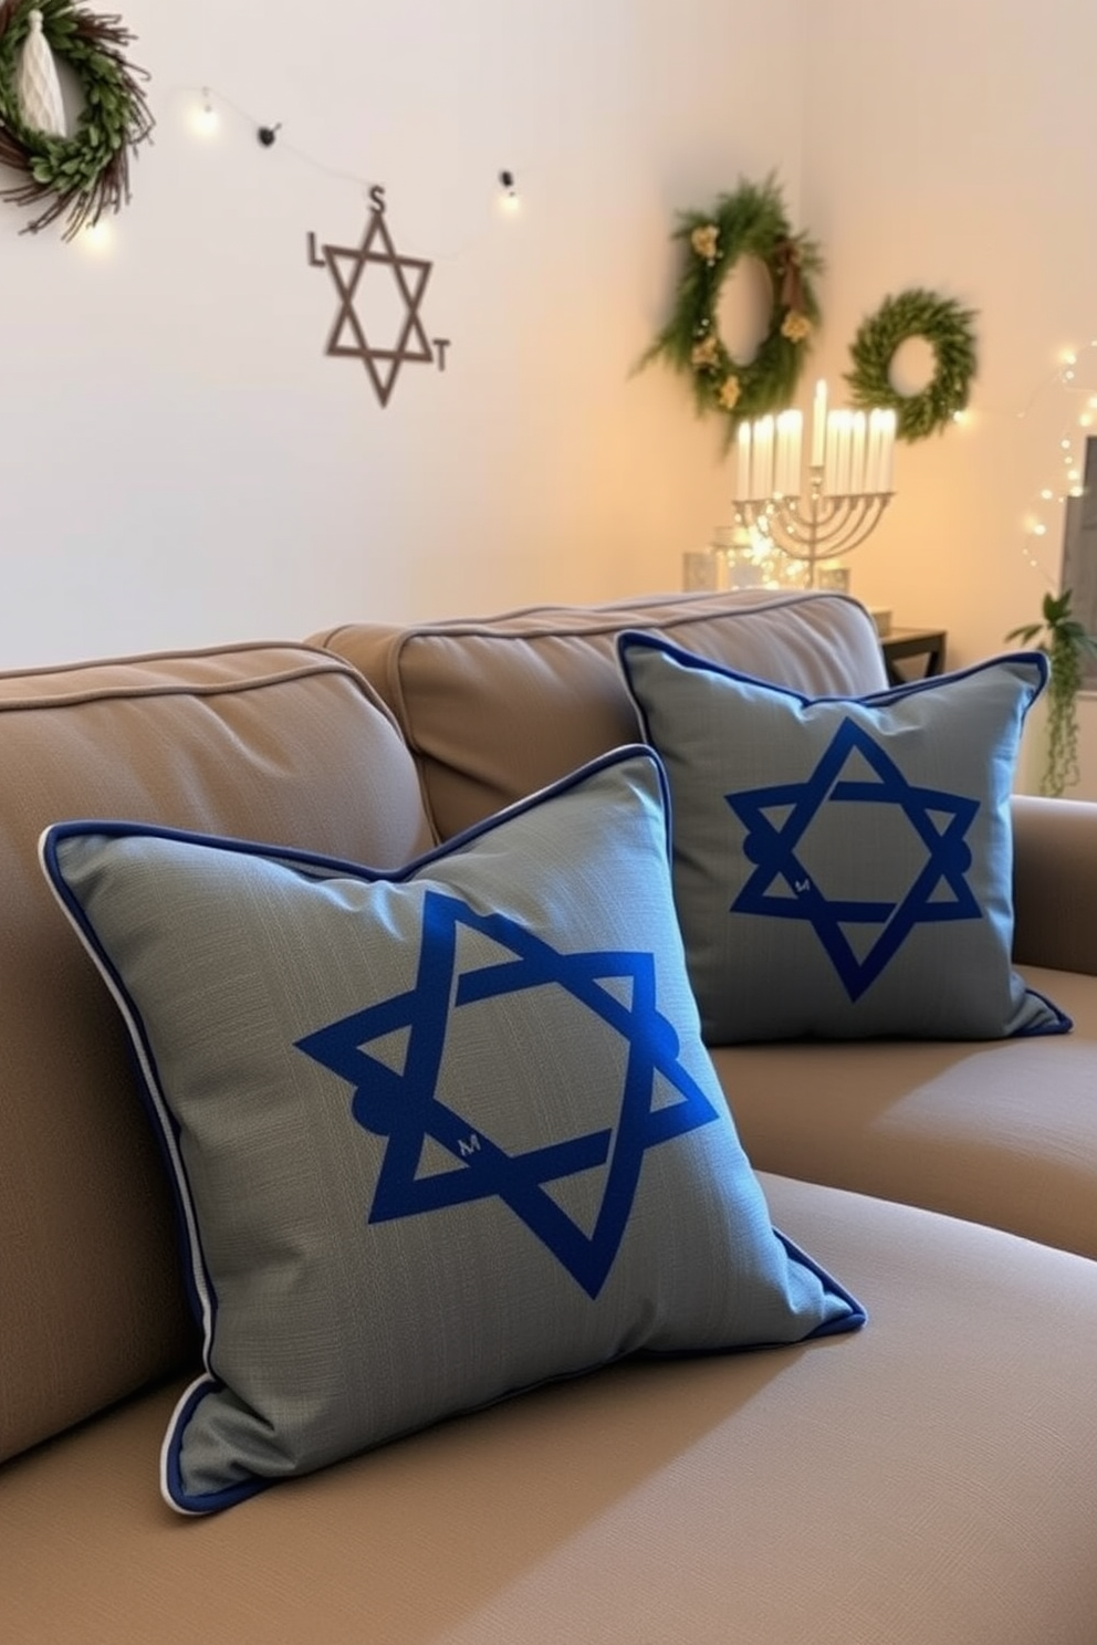
{"type": "Polygon", "coordinates": [[[753,1165],[1097,1258],[1097,977],[1021,974],[1071,1035],[717,1046],[753,1165]]]}

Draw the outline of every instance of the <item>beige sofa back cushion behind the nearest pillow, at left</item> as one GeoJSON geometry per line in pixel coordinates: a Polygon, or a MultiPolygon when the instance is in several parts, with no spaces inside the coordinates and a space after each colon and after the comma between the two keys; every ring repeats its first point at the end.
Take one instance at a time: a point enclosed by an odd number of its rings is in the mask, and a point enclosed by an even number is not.
{"type": "Polygon", "coordinates": [[[429,827],[388,712],[296,645],[0,674],[0,770],[2,1461],[197,1341],[122,1020],[41,831],[130,818],[396,867],[429,827]]]}

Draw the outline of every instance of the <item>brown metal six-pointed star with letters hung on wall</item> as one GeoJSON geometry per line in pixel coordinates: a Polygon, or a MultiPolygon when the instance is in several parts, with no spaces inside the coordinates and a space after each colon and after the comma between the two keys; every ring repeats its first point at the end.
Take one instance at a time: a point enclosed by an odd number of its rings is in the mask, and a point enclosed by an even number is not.
{"type": "Polygon", "coordinates": [[[359,247],[324,245],[317,248],[316,235],[309,235],[309,263],[326,268],[339,293],[339,313],[327,337],[326,354],[362,360],[373,392],[386,406],[401,365],[437,365],[446,370],[447,337],[428,339],[423,329],[421,308],[431,278],[433,263],[421,257],[403,257],[396,252],[385,222],[385,191],[370,189],[372,212],[359,247]],[[382,336],[390,321],[363,319],[362,306],[368,296],[367,275],[375,296],[391,298],[396,291],[396,334],[382,336]],[[388,281],[386,290],[377,290],[388,281]]]}

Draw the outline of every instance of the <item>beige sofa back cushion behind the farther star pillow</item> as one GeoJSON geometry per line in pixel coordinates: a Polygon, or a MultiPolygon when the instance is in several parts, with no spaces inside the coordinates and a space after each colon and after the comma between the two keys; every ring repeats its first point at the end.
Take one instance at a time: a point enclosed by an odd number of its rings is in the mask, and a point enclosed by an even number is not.
{"type": "Polygon", "coordinates": [[[352,623],[314,635],[359,668],[418,760],[441,839],[640,735],[617,663],[625,628],[809,696],[886,684],[877,630],[835,594],[656,595],[541,605],[416,628],[352,623]]]}

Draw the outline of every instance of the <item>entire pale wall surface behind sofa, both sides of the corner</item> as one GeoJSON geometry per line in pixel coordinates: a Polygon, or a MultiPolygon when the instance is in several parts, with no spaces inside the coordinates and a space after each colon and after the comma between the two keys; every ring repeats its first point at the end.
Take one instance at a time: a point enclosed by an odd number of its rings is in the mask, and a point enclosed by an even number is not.
{"type": "MultiPolygon", "coordinates": [[[[678,586],[729,469],[686,387],[630,367],[676,211],[771,169],[829,260],[811,380],[888,291],[979,309],[969,426],[900,449],[855,592],[946,625],[954,663],[1036,615],[1061,520],[1035,544],[1025,518],[1074,410],[1036,390],[1097,339],[1090,0],[122,10],[158,128],[110,248],[0,206],[2,666],[678,586]],[[388,410],[324,355],[306,260],[357,242],[368,183],[452,339],[388,410]]],[[[1097,795],[1095,704],[1082,732],[1097,795]]]]}

